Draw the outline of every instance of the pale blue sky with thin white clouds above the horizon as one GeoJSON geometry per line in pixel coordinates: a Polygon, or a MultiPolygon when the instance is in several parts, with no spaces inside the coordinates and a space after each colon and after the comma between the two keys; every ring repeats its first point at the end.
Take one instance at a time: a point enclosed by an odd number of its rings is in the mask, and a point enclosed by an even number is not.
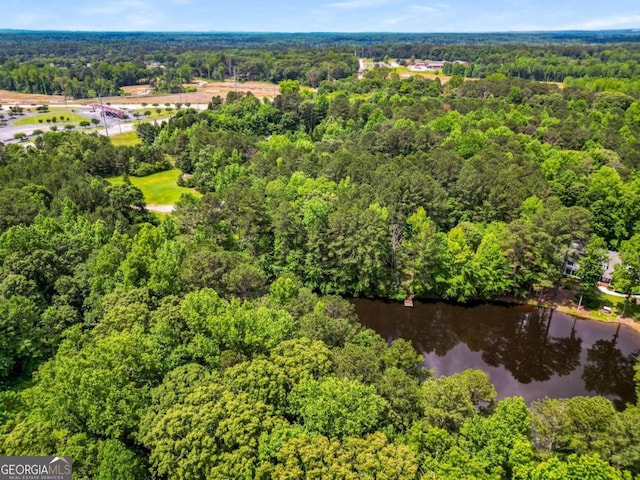
{"type": "Polygon", "coordinates": [[[0,28],[487,32],[640,28],[638,0],[2,0],[0,28]]]}

